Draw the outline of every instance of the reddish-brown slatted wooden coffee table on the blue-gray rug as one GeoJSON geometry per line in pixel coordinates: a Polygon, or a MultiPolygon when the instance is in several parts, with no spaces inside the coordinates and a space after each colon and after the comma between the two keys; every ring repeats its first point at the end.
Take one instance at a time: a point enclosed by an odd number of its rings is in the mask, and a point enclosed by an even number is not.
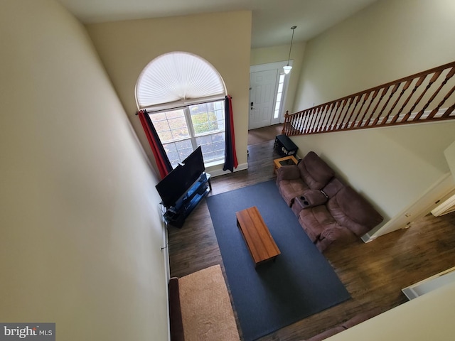
{"type": "Polygon", "coordinates": [[[255,266],[281,254],[256,206],[235,212],[235,215],[255,266]]]}

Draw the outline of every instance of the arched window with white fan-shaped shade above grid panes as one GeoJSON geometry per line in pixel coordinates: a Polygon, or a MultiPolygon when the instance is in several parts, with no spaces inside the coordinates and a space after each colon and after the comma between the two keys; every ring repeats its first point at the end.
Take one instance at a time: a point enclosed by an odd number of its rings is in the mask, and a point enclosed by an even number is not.
{"type": "Polygon", "coordinates": [[[205,163],[223,161],[226,88],[203,58],[172,52],[152,60],[136,85],[138,109],[146,109],[173,167],[198,146],[205,163]]]}

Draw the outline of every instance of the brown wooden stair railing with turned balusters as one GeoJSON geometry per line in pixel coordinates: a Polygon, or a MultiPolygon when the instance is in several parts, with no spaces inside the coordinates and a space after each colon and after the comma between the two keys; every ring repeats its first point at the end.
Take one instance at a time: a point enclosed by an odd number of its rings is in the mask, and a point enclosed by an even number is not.
{"type": "Polygon", "coordinates": [[[454,75],[452,62],[301,112],[286,112],[282,134],[320,134],[455,119],[454,75]]]}

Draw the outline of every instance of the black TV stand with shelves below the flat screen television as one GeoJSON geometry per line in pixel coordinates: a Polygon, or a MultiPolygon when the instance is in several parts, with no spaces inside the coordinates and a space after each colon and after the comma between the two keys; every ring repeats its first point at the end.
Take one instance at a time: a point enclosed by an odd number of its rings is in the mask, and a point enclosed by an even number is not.
{"type": "Polygon", "coordinates": [[[204,172],[174,205],[166,207],[166,212],[164,212],[166,222],[174,227],[181,228],[186,217],[195,209],[200,200],[203,200],[203,197],[210,193],[210,190],[212,190],[210,174],[204,172]]]}

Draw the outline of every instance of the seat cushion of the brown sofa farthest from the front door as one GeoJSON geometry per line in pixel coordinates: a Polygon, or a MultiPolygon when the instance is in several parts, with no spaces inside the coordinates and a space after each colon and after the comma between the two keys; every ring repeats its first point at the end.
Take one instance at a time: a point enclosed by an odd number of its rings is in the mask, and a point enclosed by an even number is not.
{"type": "Polygon", "coordinates": [[[316,242],[324,229],[333,227],[336,224],[328,212],[326,205],[301,210],[299,213],[299,223],[306,235],[311,239],[311,242],[316,242]]]}

